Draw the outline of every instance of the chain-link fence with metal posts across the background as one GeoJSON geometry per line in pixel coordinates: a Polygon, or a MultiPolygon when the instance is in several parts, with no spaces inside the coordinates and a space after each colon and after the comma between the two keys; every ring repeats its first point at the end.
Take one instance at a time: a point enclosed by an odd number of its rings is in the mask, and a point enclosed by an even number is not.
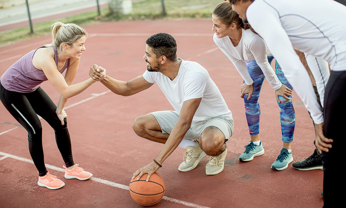
{"type": "MultiPolygon", "coordinates": [[[[209,17],[223,0],[0,0],[0,35],[15,28],[29,33],[39,23],[93,12],[92,17],[155,19],[163,17],[209,17]],[[102,12],[100,10],[102,9],[102,12]],[[101,14],[102,13],[102,14],[101,14]],[[101,16],[100,16],[101,15],[101,16]]],[[[76,19],[69,19],[76,23],[76,19]]],[[[36,28],[35,28],[36,27],[36,28]]],[[[45,25],[46,27],[46,25],[45,25]]]]}

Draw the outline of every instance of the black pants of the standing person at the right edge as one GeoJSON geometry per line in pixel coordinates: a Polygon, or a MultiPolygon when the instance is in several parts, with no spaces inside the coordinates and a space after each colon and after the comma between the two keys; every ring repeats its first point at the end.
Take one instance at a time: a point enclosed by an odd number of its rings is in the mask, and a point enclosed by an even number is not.
{"type": "Polygon", "coordinates": [[[346,71],[331,71],[324,97],[325,137],[333,139],[328,152],[322,152],[324,208],[344,204],[346,71]]]}

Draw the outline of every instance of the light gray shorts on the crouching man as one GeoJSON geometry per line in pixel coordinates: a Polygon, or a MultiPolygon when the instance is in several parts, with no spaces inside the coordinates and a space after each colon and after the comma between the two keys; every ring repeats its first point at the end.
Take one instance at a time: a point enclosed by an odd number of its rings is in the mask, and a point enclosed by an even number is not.
{"type": "MultiPolygon", "coordinates": [[[[162,133],[171,134],[174,125],[179,119],[179,114],[177,114],[176,111],[155,111],[149,114],[156,118],[158,124],[160,124],[162,133]]],[[[213,126],[220,129],[220,131],[224,133],[225,142],[227,142],[233,133],[233,123],[233,119],[227,120],[224,118],[212,118],[206,121],[192,122],[190,129],[184,136],[184,139],[199,139],[204,129],[213,126]]]]}

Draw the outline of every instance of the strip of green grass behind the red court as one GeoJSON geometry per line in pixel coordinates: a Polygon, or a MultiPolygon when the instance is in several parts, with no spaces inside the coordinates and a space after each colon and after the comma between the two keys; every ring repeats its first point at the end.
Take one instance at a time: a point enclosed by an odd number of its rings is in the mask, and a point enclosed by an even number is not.
{"type": "Polygon", "coordinates": [[[33,34],[30,33],[29,27],[4,31],[0,33],[0,46],[50,34],[50,26],[55,21],[85,26],[99,21],[211,18],[212,10],[219,2],[220,0],[164,0],[166,16],[163,16],[161,0],[136,1],[132,3],[133,12],[129,15],[121,15],[119,12],[111,11],[110,8],[103,8],[101,14],[104,15],[101,16],[98,16],[97,11],[92,11],[35,24],[33,25],[33,34]]]}

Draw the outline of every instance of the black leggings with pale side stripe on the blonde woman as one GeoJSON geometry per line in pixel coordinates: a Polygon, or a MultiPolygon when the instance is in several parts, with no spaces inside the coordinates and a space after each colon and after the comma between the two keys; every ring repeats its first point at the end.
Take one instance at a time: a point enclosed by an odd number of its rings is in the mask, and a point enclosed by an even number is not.
{"type": "Polygon", "coordinates": [[[56,105],[52,99],[39,87],[34,92],[18,93],[5,89],[1,84],[0,100],[11,115],[27,130],[29,152],[38,170],[39,176],[48,172],[44,163],[42,148],[42,125],[36,114],[41,116],[54,129],[55,140],[66,167],[74,165],[71,140],[67,121],[61,125],[56,115],[56,105]]]}

